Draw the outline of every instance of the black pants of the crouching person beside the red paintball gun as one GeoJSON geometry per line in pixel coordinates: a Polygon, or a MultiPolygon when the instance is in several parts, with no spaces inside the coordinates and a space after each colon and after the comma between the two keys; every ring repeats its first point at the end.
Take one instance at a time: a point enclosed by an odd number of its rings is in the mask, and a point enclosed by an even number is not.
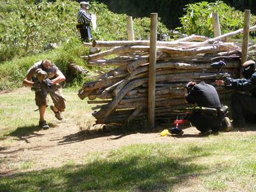
{"type": "Polygon", "coordinates": [[[213,133],[217,133],[221,128],[223,119],[224,117],[220,117],[220,115],[217,115],[217,117],[215,115],[203,115],[203,113],[198,110],[193,110],[188,117],[191,124],[195,126],[197,130],[201,131],[201,133],[205,133],[210,129],[213,133]]]}

